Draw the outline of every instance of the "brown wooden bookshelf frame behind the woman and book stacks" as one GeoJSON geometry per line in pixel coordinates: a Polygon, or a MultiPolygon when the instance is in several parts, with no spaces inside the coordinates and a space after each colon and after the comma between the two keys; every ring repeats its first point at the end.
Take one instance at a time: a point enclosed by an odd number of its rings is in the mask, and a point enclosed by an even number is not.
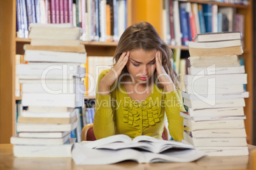
{"type": "MultiPolygon", "coordinates": [[[[182,1],[180,1],[182,2],[182,1]]],[[[190,3],[211,3],[218,6],[231,6],[236,12],[245,15],[245,69],[248,74],[247,91],[250,98],[246,98],[246,133],[248,143],[252,143],[252,114],[253,114],[253,15],[252,3],[248,6],[238,4],[224,4],[213,1],[187,0],[190,3]]],[[[162,36],[162,1],[155,0],[127,0],[129,5],[128,25],[139,21],[147,21],[157,29],[162,36]],[[132,9],[132,10],[131,10],[132,9]]],[[[24,44],[29,39],[15,37],[16,32],[16,1],[0,1],[0,143],[10,143],[10,137],[15,134],[15,54],[24,54],[24,44]],[[8,16],[8,17],[6,17],[8,16]]],[[[113,56],[117,42],[82,42],[88,56],[113,56]]],[[[187,46],[170,46],[172,49],[188,50],[187,46]]],[[[94,98],[90,96],[89,98],[94,98]]]]}

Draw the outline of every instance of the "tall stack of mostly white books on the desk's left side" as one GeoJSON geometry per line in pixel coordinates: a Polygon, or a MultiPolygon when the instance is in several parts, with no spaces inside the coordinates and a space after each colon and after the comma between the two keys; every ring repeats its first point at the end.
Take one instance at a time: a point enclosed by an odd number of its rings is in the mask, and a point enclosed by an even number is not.
{"type": "Polygon", "coordinates": [[[27,106],[11,137],[16,157],[71,157],[78,126],[78,109],[84,105],[85,46],[81,30],[71,24],[32,24],[24,60],[17,65],[22,105],[27,106]]]}

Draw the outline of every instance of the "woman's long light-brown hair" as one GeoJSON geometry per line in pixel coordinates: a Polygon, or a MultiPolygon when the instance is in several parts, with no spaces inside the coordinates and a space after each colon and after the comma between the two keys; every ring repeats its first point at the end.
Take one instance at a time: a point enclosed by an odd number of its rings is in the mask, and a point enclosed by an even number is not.
{"type": "MultiPolygon", "coordinates": [[[[174,85],[176,87],[180,87],[177,74],[173,70],[171,63],[173,52],[171,51],[171,48],[169,48],[169,46],[162,41],[153,25],[148,22],[138,22],[125,29],[118,42],[113,62],[117,63],[120,56],[125,51],[131,51],[132,49],[138,48],[144,49],[145,51],[150,51],[152,49],[157,49],[157,51],[160,51],[162,53],[162,65],[164,70],[166,70],[166,73],[171,77],[174,85]]],[[[127,73],[129,72],[127,68],[124,67],[121,75],[127,73]]],[[[153,73],[153,77],[155,77],[154,82],[157,84],[158,88],[163,88],[162,84],[160,84],[159,80],[157,79],[156,70],[153,73]]]]}

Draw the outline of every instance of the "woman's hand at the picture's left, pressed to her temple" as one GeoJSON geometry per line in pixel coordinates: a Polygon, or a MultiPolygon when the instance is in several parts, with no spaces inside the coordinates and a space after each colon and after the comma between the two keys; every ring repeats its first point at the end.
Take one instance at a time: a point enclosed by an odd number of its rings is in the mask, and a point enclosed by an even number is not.
{"type": "Polygon", "coordinates": [[[106,74],[99,83],[99,95],[110,95],[110,86],[118,79],[126,63],[128,62],[130,51],[122,53],[114,67],[106,74]]]}

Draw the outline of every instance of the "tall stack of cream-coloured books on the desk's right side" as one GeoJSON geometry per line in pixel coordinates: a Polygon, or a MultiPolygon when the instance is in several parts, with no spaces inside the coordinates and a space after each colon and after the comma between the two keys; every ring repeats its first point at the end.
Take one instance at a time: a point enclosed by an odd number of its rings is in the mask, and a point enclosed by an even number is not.
{"type": "Polygon", "coordinates": [[[241,33],[197,34],[194,39],[188,44],[191,67],[182,92],[188,112],[180,112],[184,140],[210,156],[248,155],[241,33]]]}

